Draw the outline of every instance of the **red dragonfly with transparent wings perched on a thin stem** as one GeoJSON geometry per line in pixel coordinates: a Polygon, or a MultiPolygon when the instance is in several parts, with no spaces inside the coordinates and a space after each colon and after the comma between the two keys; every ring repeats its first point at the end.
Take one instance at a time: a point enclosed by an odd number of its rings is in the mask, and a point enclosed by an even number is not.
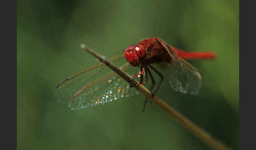
{"type": "MultiPolygon", "coordinates": [[[[139,79],[140,84],[147,83],[149,74],[152,81],[150,91],[155,85],[151,72],[154,71],[161,80],[152,94],[159,90],[163,81],[162,73],[152,64],[166,63],[169,66],[167,69],[170,71],[169,83],[172,89],[196,95],[202,87],[202,76],[184,59],[213,59],[215,57],[213,52],[185,52],[166,44],[159,38],[146,38],[137,45],[127,47],[125,52],[113,56],[110,61],[133,78],[139,79]],[[143,76],[145,76],[145,81],[143,76]]],[[[106,67],[104,63],[98,63],[63,80],[55,88],[54,98],[58,102],[68,102],[68,107],[72,110],[79,110],[135,94],[139,94],[135,88],[130,87],[129,83],[106,67]]],[[[147,99],[143,111],[146,101],[147,99]]]]}

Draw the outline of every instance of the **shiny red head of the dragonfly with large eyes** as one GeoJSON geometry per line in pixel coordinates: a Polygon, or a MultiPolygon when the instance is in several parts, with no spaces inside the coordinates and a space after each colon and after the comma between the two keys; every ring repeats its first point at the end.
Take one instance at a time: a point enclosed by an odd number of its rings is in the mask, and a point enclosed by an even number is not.
{"type": "Polygon", "coordinates": [[[141,45],[132,45],[125,49],[125,58],[134,67],[139,66],[146,58],[146,51],[141,45]]]}

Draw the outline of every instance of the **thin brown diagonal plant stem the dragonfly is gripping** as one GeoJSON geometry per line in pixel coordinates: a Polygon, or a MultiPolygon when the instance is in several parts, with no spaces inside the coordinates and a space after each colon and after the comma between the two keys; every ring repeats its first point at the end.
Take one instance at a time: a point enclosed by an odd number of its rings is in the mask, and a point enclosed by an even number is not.
{"type": "MultiPolygon", "coordinates": [[[[97,54],[93,50],[91,50],[88,47],[85,47],[84,44],[81,45],[81,48],[83,50],[86,50],[90,52],[93,56],[98,58],[101,62],[105,63],[106,66],[110,67],[114,72],[119,74],[124,80],[129,82],[132,86],[139,83],[135,79],[133,79],[129,74],[126,72],[120,70],[118,67],[114,66],[113,63],[111,63],[109,60],[105,59],[105,57],[97,54]],[[132,80],[131,80],[132,78],[132,80]]],[[[169,113],[171,117],[173,117],[177,122],[182,124],[187,130],[189,130],[192,134],[194,134],[196,137],[198,137],[200,140],[202,140],[204,143],[209,145],[213,149],[231,149],[224,143],[215,140],[213,136],[211,136],[209,133],[204,131],[202,128],[200,128],[198,125],[194,124],[192,121],[187,119],[184,115],[179,113],[178,111],[174,110],[170,105],[166,104],[164,101],[162,101],[160,98],[157,98],[155,95],[152,97],[151,92],[145,88],[143,85],[136,85],[134,88],[136,88],[138,91],[140,91],[142,94],[144,94],[147,98],[153,100],[153,102],[160,106],[161,109],[163,109],[165,112],[169,113]]]]}

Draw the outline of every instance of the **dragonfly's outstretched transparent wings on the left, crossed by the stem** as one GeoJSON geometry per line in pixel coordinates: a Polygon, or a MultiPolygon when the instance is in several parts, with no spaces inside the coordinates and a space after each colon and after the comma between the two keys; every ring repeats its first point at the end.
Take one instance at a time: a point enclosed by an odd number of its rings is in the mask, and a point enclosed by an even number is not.
{"type": "MultiPolygon", "coordinates": [[[[132,67],[126,61],[123,52],[110,60],[115,66],[131,76],[140,71],[140,68],[132,67]]],[[[58,84],[54,91],[54,98],[58,102],[68,102],[68,106],[72,110],[78,110],[127,98],[135,94],[139,94],[135,88],[130,88],[129,83],[105,66],[104,63],[99,63],[58,84]]]]}

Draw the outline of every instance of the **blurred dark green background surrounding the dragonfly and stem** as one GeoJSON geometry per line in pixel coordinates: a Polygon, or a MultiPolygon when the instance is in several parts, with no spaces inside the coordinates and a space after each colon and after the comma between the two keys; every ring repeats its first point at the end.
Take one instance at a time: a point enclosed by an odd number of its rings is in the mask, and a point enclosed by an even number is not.
{"type": "MultiPolygon", "coordinates": [[[[209,149],[136,95],[71,111],[56,85],[97,63],[81,43],[112,56],[158,37],[216,60],[189,61],[203,75],[199,96],[157,96],[234,149],[239,148],[238,1],[17,1],[17,149],[209,149]]],[[[168,74],[165,74],[168,77],[168,74]]]]}

